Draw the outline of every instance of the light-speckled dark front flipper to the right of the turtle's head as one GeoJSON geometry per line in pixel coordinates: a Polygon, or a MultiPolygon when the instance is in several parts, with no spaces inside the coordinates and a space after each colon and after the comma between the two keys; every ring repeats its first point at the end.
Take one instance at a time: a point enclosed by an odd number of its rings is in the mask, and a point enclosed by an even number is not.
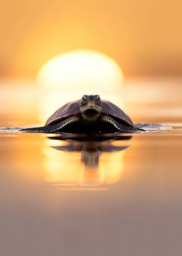
{"type": "Polygon", "coordinates": [[[122,123],[118,123],[118,121],[114,120],[113,118],[110,118],[110,116],[102,116],[101,117],[101,121],[105,122],[105,123],[109,123],[110,125],[113,125],[113,127],[116,128],[116,131],[120,131],[120,132],[135,132],[135,131],[144,131],[140,128],[137,127],[129,127],[127,125],[124,125],[122,123]]]}

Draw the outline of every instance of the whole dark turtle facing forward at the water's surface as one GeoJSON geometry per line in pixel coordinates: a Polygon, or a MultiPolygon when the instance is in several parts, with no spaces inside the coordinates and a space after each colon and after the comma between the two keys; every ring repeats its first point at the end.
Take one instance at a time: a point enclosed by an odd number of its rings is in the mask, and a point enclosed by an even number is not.
{"type": "Polygon", "coordinates": [[[123,110],[99,95],[83,95],[78,101],[65,104],[48,118],[45,126],[21,129],[30,133],[121,133],[138,130],[123,110]]]}

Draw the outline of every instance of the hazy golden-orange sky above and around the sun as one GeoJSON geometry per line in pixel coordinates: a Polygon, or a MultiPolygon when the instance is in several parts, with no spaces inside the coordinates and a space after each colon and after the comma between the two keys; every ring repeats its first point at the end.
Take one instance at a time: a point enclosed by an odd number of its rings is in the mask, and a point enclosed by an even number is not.
{"type": "Polygon", "coordinates": [[[35,78],[51,57],[92,49],[126,77],[182,74],[181,0],[0,0],[0,76],[35,78]]]}

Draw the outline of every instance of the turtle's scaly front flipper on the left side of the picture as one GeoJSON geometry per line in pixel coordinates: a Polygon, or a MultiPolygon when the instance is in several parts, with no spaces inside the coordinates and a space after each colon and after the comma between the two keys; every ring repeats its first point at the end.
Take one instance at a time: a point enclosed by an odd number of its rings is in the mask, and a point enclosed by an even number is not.
{"type": "Polygon", "coordinates": [[[66,133],[66,126],[72,125],[73,123],[77,123],[80,119],[77,116],[72,116],[71,118],[67,118],[66,120],[61,121],[60,123],[45,125],[42,127],[33,127],[27,129],[21,129],[25,133],[61,133],[64,129],[64,133],[66,133]]]}

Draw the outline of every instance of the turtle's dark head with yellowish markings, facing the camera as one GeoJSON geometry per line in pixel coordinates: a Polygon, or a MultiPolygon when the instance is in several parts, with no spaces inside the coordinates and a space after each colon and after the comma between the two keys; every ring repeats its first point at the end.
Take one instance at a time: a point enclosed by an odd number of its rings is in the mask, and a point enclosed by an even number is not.
{"type": "Polygon", "coordinates": [[[96,121],[102,110],[101,98],[99,95],[83,95],[80,103],[80,111],[86,121],[96,121]]]}

